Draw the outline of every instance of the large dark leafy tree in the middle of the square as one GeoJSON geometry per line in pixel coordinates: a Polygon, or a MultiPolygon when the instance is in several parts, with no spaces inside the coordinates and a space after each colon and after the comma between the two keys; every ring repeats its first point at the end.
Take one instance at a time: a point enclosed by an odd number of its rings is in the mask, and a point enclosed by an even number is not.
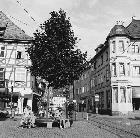
{"type": "Polygon", "coordinates": [[[78,38],[74,36],[66,12],[60,9],[50,15],[34,33],[35,40],[28,48],[32,62],[30,71],[48,81],[49,86],[62,88],[81,75],[87,53],[76,48],[78,38]]]}

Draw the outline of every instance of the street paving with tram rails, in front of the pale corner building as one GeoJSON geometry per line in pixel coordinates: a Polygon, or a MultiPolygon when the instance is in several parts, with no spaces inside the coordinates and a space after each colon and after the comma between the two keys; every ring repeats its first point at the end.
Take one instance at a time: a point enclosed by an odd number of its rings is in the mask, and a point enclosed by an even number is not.
{"type": "Polygon", "coordinates": [[[136,137],[140,137],[140,111],[120,116],[89,114],[89,122],[93,122],[94,124],[94,120],[95,122],[98,120],[104,125],[107,124],[107,126],[110,126],[112,129],[118,128],[119,130],[124,130],[126,132],[126,137],[129,136],[129,132],[133,133],[136,137]]]}

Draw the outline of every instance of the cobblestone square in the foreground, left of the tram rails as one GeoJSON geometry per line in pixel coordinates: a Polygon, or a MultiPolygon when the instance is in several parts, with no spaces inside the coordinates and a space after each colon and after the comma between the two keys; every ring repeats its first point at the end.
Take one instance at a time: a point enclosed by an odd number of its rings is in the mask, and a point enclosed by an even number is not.
{"type": "Polygon", "coordinates": [[[0,121],[0,138],[118,138],[86,121],[75,121],[71,128],[21,128],[19,119],[0,121]]]}

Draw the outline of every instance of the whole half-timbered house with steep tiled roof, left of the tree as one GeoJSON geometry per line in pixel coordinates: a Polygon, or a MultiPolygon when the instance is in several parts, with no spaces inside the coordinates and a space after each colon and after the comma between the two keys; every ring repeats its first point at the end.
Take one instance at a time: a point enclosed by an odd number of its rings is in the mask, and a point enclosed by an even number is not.
{"type": "Polygon", "coordinates": [[[27,104],[32,108],[34,77],[26,67],[31,65],[27,48],[33,39],[0,12],[0,98],[1,107],[13,104],[19,114],[27,104]]]}

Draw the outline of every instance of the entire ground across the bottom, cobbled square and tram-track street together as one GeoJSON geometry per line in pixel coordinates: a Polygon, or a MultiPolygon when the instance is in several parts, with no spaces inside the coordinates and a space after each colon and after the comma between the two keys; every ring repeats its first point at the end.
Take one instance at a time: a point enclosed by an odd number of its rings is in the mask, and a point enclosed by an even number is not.
{"type": "Polygon", "coordinates": [[[139,138],[140,111],[127,116],[77,113],[71,128],[21,128],[20,117],[0,121],[0,138],[139,138]]]}

